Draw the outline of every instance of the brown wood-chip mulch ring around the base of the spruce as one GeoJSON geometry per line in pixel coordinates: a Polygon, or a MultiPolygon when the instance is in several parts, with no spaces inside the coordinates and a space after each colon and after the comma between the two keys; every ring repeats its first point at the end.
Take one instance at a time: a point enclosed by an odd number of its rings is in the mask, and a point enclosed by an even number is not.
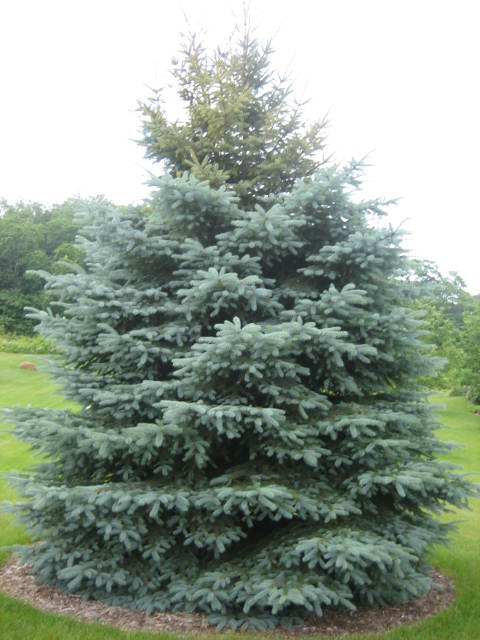
{"type": "MultiPolygon", "coordinates": [[[[380,633],[398,625],[423,620],[446,609],[455,597],[454,585],[449,578],[436,571],[432,577],[437,586],[422,598],[407,604],[353,612],[326,611],[324,616],[312,618],[306,625],[291,630],[278,628],[263,632],[262,636],[298,637],[323,633],[342,638],[351,633],[380,633]]],[[[43,611],[68,615],[84,622],[110,624],[123,630],[169,631],[181,634],[180,637],[185,637],[184,634],[215,633],[215,627],[208,624],[203,615],[155,613],[147,616],[140,611],[65,595],[53,587],[37,584],[29,567],[21,565],[15,557],[0,569],[0,590],[43,611]]]]}

